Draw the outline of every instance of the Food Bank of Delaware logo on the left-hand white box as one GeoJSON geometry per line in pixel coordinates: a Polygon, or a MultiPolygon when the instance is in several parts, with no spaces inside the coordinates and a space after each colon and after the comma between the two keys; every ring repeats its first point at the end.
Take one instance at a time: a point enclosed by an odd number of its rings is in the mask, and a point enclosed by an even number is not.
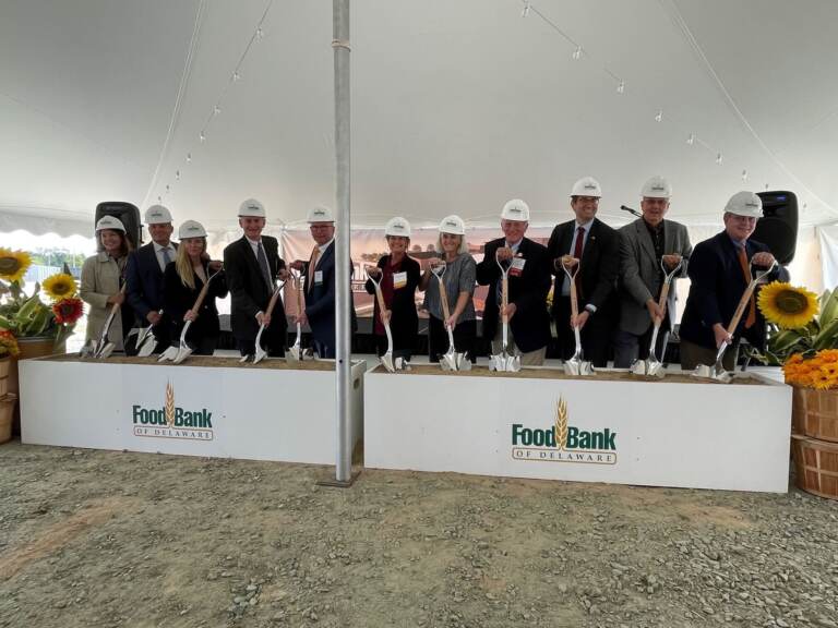
{"type": "Polygon", "coordinates": [[[175,387],[166,384],[166,395],[160,408],[131,407],[134,436],[152,438],[185,438],[189,440],[213,439],[213,413],[206,408],[187,409],[175,404],[175,387]]]}

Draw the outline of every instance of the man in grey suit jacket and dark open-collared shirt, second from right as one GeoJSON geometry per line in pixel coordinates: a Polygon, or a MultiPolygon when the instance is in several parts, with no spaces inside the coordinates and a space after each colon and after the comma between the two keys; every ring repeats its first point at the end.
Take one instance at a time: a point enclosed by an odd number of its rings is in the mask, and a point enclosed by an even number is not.
{"type": "Polygon", "coordinates": [[[663,270],[672,270],[681,259],[684,265],[675,277],[686,277],[686,261],[693,252],[686,227],[663,220],[669,210],[672,189],[662,177],[653,177],[641,192],[643,217],[620,229],[620,325],[614,336],[614,366],[627,369],[649,353],[655,321],[660,331],[655,351],[663,358],[669,333],[674,325],[675,286],[670,286],[667,304],[658,306],[663,286],[663,270]]]}

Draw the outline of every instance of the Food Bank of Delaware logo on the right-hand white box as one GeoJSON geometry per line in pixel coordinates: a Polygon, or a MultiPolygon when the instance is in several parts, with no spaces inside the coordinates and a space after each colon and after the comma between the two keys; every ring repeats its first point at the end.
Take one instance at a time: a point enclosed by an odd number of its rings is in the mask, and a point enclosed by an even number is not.
{"type": "Polygon", "coordinates": [[[567,402],[555,403],[553,424],[549,427],[512,425],[512,457],[515,460],[547,462],[616,463],[616,432],[580,430],[568,422],[567,402]]]}

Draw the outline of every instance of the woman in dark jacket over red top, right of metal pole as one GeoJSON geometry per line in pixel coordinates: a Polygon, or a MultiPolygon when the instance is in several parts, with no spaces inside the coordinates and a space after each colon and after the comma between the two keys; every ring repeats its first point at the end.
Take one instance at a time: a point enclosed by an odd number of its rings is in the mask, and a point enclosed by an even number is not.
{"type": "MultiPolygon", "coordinates": [[[[404,218],[392,218],[384,228],[390,255],[383,255],[376,267],[368,267],[367,274],[381,281],[386,310],[384,319],[390,321],[393,333],[393,357],[410,360],[419,334],[419,315],[416,312],[416,289],[421,271],[419,263],[408,257],[410,224],[404,218]]],[[[375,294],[375,285],[367,280],[367,292],[375,294]]],[[[373,333],[379,355],[387,350],[387,337],[382,323],[382,312],[375,300],[373,333]]]]}

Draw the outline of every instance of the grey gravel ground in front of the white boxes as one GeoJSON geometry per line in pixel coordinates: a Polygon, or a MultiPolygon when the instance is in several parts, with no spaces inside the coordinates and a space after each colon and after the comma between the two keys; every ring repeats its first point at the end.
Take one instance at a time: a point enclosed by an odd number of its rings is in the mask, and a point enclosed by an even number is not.
{"type": "MultiPolygon", "coordinates": [[[[708,463],[711,463],[708,461],[708,463]]],[[[0,447],[0,626],[838,627],[838,503],[0,447]]]]}

